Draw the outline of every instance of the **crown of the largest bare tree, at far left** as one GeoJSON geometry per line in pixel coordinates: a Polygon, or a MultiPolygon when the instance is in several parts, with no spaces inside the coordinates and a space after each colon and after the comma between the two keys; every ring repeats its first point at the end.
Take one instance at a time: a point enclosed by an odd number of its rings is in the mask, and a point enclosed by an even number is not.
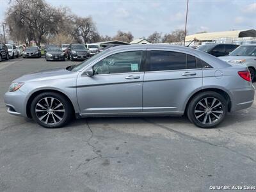
{"type": "MultiPolygon", "coordinates": [[[[66,10],[52,8],[44,0],[15,0],[6,14],[6,24],[14,38],[35,40],[40,46],[47,35],[61,31],[66,10]]],[[[24,40],[24,39],[23,39],[24,40]]]]}

